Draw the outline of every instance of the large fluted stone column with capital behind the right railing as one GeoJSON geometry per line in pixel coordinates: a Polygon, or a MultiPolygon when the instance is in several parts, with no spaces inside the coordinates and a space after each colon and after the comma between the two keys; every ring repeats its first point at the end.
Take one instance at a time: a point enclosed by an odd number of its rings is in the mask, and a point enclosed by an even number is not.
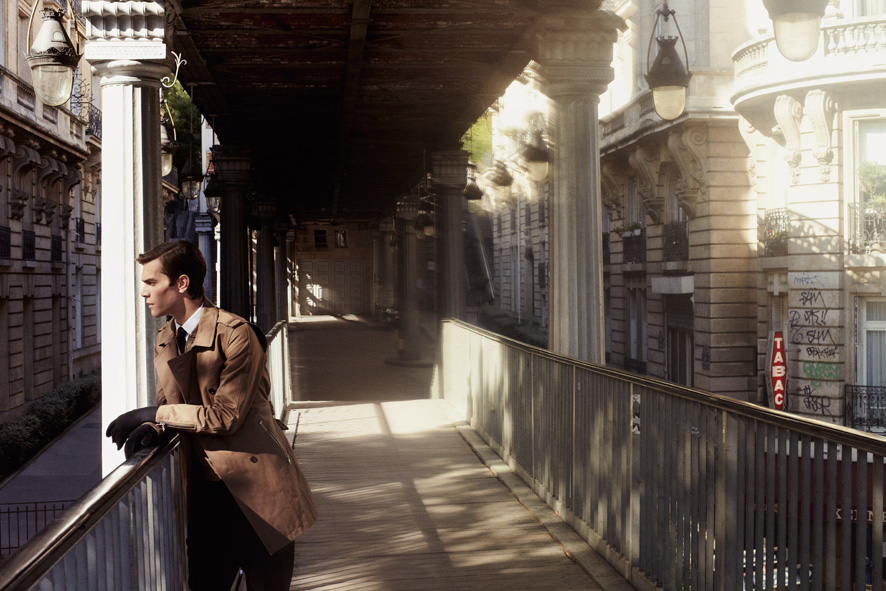
{"type": "Polygon", "coordinates": [[[597,105],[613,78],[621,19],[555,12],[543,19],[538,61],[551,99],[549,348],[605,362],[600,136],[597,105]]]}

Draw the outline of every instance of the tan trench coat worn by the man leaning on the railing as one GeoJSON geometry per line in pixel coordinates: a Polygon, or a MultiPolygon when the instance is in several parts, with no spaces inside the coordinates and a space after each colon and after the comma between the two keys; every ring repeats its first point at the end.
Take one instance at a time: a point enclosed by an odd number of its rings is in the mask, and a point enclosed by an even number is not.
{"type": "Polygon", "coordinates": [[[258,337],[239,316],[209,300],[203,306],[182,355],[173,322],[157,335],[156,419],[182,432],[186,446],[193,445],[193,437],[206,451],[210,466],[273,554],[313,524],[317,508],[274,420],[267,356],[258,337]]]}

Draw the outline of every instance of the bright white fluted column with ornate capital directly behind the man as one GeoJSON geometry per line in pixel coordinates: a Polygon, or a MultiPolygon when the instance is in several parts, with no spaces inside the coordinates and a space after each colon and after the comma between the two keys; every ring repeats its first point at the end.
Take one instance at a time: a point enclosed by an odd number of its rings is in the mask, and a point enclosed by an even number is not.
{"type": "MultiPolygon", "coordinates": [[[[140,296],[136,257],[162,241],[160,79],[169,74],[158,2],[82,3],[85,58],[102,93],[102,433],[119,414],[155,403],[158,322],[140,296]],[[120,22],[117,23],[120,15],[120,22]],[[136,34],[147,31],[147,38],[136,34]]],[[[102,437],[102,471],[123,461],[102,437]]]]}

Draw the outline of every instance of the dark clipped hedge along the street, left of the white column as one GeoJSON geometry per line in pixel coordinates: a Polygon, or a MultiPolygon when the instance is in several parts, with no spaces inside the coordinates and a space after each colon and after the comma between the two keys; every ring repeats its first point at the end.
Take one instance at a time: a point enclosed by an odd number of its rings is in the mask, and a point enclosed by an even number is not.
{"type": "Polygon", "coordinates": [[[0,425],[0,479],[6,478],[101,400],[101,376],[62,384],[17,419],[0,425]]]}

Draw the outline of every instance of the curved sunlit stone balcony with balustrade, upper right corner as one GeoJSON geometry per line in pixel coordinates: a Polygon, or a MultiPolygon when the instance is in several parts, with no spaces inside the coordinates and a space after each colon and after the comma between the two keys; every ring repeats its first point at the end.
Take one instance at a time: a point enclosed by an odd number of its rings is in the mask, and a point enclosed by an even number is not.
{"type": "Polygon", "coordinates": [[[739,47],[732,54],[735,109],[746,115],[779,94],[818,88],[823,80],[849,92],[886,77],[886,15],[825,19],[821,29],[818,51],[805,62],[784,58],[772,36],[739,47]]]}

